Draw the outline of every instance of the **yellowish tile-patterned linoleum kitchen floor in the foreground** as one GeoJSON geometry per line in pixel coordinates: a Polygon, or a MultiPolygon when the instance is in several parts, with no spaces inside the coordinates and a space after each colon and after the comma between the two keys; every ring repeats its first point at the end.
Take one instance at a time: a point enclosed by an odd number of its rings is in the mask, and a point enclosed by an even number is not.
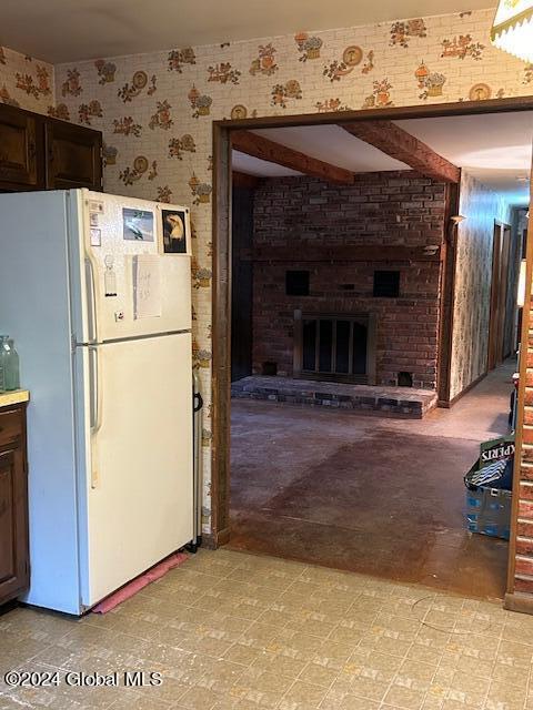
{"type": "Polygon", "coordinates": [[[533,617],[501,604],[229,549],[104,616],[0,617],[1,710],[532,710],[532,668],[533,617]],[[11,688],[11,669],[59,684],[11,688]]]}

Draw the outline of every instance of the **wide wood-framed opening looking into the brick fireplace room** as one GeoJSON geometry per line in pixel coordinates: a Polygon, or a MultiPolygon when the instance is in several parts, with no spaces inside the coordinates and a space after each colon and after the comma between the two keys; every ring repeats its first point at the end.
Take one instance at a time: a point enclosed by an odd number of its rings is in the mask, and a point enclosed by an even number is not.
{"type": "MultiPolygon", "coordinates": [[[[398,123],[442,154],[459,124],[431,121],[398,123]]],[[[323,146],[303,145],[309,131],[285,129],[251,131],[323,160],[323,146]]],[[[295,174],[276,174],[275,154],[265,168],[235,148],[232,483],[215,484],[225,485],[219,541],[503,597],[507,545],[467,534],[462,478],[481,442],[507,432],[527,191],[517,202],[516,180],[486,185],[469,163],[456,183],[409,163],[354,165],[343,185],[286,165],[295,174]],[[496,197],[480,220],[485,190],[496,197]]]]}

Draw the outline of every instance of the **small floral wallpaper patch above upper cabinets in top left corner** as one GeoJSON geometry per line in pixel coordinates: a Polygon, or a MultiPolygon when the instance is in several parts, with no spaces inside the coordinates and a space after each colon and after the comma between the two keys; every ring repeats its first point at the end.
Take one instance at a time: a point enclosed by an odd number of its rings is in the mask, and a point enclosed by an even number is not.
{"type": "Polygon", "coordinates": [[[53,67],[0,47],[0,102],[38,113],[53,111],[53,67]]]}

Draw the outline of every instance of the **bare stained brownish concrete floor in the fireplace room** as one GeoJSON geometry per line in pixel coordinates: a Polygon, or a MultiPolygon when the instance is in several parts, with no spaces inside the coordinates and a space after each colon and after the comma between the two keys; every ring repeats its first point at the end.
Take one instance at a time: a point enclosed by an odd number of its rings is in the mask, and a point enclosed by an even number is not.
{"type": "Polygon", "coordinates": [[[507,544],[464,529],[463,475],[507,430],[514,368],[423,420],[233,402],[230,547],[502,598],[507,544]]]}

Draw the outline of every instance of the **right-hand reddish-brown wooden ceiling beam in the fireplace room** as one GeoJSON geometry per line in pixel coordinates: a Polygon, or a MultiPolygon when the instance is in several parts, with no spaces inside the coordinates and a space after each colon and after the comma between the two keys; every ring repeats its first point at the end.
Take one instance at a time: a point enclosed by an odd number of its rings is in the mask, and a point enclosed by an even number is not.
{"type": "Polygon", "coordinates": [[[354,121],[339,125],[426,178],[450,183],[461,180],[460,168],[392,121],[354,121]]]}

